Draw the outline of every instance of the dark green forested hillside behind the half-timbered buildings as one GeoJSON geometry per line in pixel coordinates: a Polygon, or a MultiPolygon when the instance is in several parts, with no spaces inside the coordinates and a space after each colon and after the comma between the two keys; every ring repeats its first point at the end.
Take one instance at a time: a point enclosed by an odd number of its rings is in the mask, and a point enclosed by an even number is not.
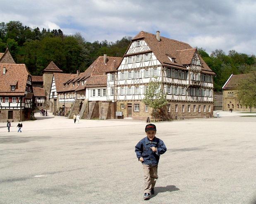
{"type": "MultiPolygon", "coordinates": [[[[60,29],[29,28],[19,21],[0,23],[0,52],[5,52],[8,46],[14,60],[25,63],[32,75],[41,75],[50,61],[54,61],[65,73],[75,73],[78,69],[84,71],[103,54],[122,57],[131,39],[132,37],[124,37],[116,42],[104,40],[91,43],[79,33],[65,35],[60,29]]],[[[248,73],[256,67],[254,55],[237,53],[234,50],[225,54],[220,49],[208,55],[203,48],[198,50],[216,73],[215,91],[221,91],[232,73],[248,73]]]]}

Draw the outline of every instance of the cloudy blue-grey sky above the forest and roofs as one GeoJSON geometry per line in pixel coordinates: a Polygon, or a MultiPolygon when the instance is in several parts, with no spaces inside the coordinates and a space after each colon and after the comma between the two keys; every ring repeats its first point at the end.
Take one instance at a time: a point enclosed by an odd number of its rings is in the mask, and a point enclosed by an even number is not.
{"type": "Polygon", "coordinates": [[[202,47],[256,54],[256,0],[0,0],[0,22],[115,42],[141,30],[202,47]]]}

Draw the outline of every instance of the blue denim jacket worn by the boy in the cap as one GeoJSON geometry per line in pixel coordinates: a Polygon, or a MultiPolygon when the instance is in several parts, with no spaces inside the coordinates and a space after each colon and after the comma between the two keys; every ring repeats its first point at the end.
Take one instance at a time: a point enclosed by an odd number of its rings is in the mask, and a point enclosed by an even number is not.
{"type": "Polygon", "coordinates": [[[155,166],[158,164],[160,155],[166,152],[165,144],[159,138],[154,137],[152,141],[148,139],[148,137],[143,138],[139,141],[135,146],[135,152],[137,158],[142,157],[144,162],[142,164],[147,164],[150,166],[155,166]],[[151,147],[156,147],[157,151],[153,152],[151,147]]]}

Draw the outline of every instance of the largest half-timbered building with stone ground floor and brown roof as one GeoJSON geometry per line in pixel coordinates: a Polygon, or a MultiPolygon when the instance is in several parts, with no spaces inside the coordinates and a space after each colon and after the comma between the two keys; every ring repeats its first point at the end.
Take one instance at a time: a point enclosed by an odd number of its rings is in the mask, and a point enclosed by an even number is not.
{"type": "Polygon", "coordinates": [[[165,117],[184,119],[213,115],[215,73],[189,44],[141,31],[117,69],[108,72],[107,100],[117,103],[124,117],[145,119],[151,110],[141,100],[156,78],[166,94],[165,117]]]}

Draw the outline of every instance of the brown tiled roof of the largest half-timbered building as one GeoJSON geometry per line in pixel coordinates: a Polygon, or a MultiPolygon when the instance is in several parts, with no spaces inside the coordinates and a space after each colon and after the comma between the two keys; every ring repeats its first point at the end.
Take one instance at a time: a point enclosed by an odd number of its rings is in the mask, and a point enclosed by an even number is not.
{"type": "MultiPolygon", "coordinates": [[[[152,33],[146,33],[141,31],[132,40],[144,39],[152,52],[156,55],[156,58],[160,63],[175,67],[183,67],[185,64],[189,64],[196,51],[189,44],[172,40],[165,37],[160,37],[160,41],[156,39],[156,35],[152,33]],[[174,58],[175,62],[172,62],[170,58],[174,58]]],[[[199,55],[199,54],[198,54],[199,55]]],[[[199,56],[202,65],[202,71],[208,71],[208,73],[215,74],[199,56]]]]}

